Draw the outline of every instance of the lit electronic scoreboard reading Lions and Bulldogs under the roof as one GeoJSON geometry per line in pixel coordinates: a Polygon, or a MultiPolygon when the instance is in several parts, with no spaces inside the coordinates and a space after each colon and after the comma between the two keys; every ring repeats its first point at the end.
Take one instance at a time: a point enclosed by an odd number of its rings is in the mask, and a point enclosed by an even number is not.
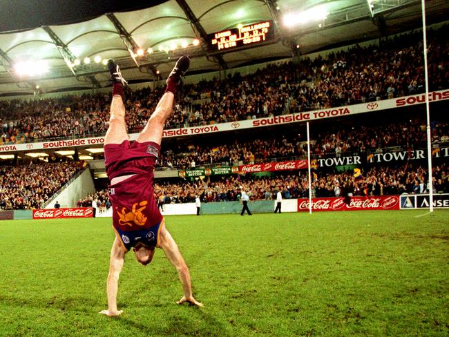
{"type": "Polygon", "coordinates": [[[252,47],[267,41],[274,41],[273,21],[251,23],[247,26],[222,30],[209,34],[207,43],[211,50],[231,50],[238,47],[252,47]]]}

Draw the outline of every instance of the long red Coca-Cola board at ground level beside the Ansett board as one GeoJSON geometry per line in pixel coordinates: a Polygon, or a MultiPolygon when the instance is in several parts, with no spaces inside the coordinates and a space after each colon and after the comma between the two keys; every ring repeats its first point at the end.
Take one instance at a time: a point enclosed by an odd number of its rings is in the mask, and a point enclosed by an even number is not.
{"type": "MultiPolygon", "coordinates": [[[[399,209],[399,195],[378,197],[312,198],[312,211],[368,211],[399,209]]],[[[309,199],[298,199],[298,212],[309,211],[309,199]]]]}

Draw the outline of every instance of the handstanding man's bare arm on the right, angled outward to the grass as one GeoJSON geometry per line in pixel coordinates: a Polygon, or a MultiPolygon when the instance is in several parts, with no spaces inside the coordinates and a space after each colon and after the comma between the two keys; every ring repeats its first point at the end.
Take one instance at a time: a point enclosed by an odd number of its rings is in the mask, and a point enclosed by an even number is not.
{"type": "Polygon", "coordinates": [[[182,304],[183,302],[190,302],[193,305],[202,307],[202,303],[195,300],[195,298],[193,298],[192,296],[189,268],[187,267],[186,262],[184,262],[184,258],[182,258],[180,250],[178,249],[178,245],[171,237],[169,231],[165,229],[165,227],[161,231],[160,247],[164,250],[165,256],[169,259],[171,264],[175,266],[182,283],[184,296],[182,296],[182,298],[178,301],[178,305],[182,304]]]}

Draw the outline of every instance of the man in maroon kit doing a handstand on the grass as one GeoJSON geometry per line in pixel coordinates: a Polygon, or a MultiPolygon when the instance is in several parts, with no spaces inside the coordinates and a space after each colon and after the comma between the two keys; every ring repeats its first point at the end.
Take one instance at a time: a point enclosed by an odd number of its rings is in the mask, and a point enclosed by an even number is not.
{"type": "Polygon", "coordinates": [[[137,140],[130,143],[126,132],[124,85],[126,81],[120,68],[113,60],[108,60],[108,69],[113,80],[111,118],[104,139],[104,164],[111,185],[108,186],[113,208],[113,229],[115,240],[111,249],[111,262],[107,279],[108,309],[100,314],[118,316],[117,290],[125,254],[132,248],[137,261],[149,264],[155,247],[162,248],[166,257],[178,271],[184,296],[178,304],[190,302],[202,307],[193,298],[189,268],[176,242],[166,230],[153,195],[153,170],[160,152],[162,131],[166,119],[171,114],[173,98],[180,77],[189,68],[189,57],[181,57],[176,62],[166,80],[166,90],[155,112],[151,115],[137,140]]]}

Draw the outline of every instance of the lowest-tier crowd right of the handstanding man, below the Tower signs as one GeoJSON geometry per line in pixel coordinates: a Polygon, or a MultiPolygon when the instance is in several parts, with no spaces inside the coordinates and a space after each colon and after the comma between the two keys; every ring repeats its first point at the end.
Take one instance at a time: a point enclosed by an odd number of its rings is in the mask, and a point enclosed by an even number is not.
{"type": "MultiPolygon", "coordinates": [[[[433,184],[435,193],[449,193],[448,166],[434,167],[433,184]]],[[[397,195],[402,193],[428,193],[426,168],[406,164],[399,168],[373,167],[354,177],[352,171],[321,173],[317,171],[312,178],[312,196],[338,197],[346,195],[397,195]]],[[[164,203],[195,202],[200,196],[202,202],[225,202],[240,199],[242,189],[251,200],[273,200],[277,191],[284,199],[308,198],[307,173],[277,175],[276,177],[227,176],[213,180],[195,182],[155,183],[157,200],[164,203]]]]}

